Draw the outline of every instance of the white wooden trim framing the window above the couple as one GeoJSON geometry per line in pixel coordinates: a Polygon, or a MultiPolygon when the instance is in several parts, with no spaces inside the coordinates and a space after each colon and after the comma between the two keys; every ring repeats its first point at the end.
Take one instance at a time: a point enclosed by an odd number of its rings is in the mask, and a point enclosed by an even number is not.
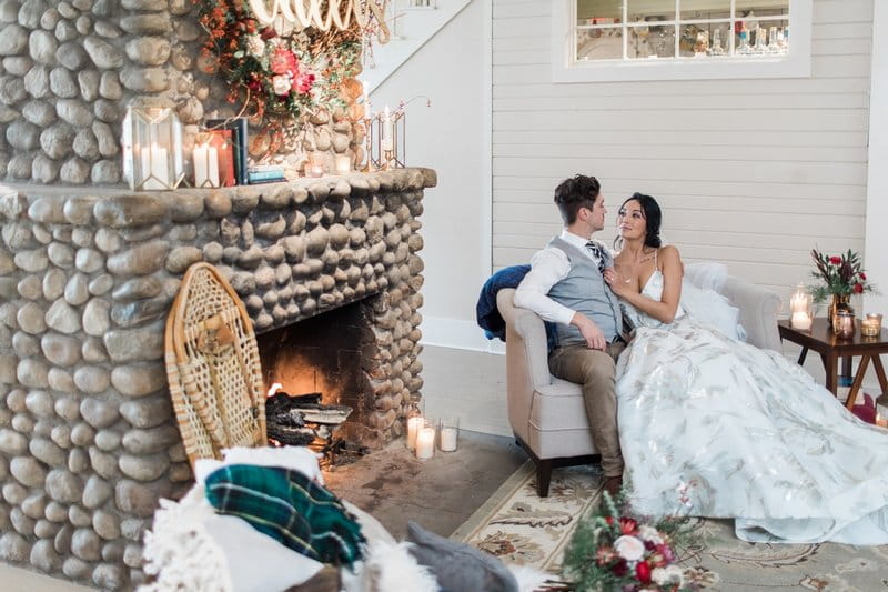
{"type": "MultiPolygon", "coordinates": [[[[576,0],[553,0],[553,82],[808,78],[811,74],[813,4],[814,0],[789,1],[791,41],[788,51],[781,54],[574,60],[576,0]]],[[[626,23],[626,27],[632,26],[626,23]]]]}

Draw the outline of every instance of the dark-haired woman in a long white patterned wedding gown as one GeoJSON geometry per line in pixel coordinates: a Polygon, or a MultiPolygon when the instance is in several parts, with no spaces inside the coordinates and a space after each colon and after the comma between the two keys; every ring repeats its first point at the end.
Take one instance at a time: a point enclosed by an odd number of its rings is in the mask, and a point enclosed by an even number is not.
{"type": "Polygon", "coordinates": [[[635,193],[617,224],[605,281],[636,327],[616,385],[633,508],[734,518],[751,542],[888,543],[888,432],[778,352],[686,314],[654,198],[635,193]]]}

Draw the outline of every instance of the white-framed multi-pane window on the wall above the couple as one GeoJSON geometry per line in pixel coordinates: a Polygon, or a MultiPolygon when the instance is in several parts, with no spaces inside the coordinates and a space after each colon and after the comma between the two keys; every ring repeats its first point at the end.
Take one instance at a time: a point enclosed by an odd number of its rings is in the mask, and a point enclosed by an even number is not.
{"type": "Polygon", "coordinates": [[[806,77],[810,23],[811,0],[556,0],[554,78],[806,77]]]}

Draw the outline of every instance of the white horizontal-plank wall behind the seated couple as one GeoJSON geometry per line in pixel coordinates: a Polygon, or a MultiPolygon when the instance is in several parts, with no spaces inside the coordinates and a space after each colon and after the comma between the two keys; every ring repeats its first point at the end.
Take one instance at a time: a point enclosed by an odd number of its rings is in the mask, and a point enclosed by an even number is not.
{"type": "Polygon", "coordinates": [[[781,295],[813,247],[862,251],[872,2],[814,0],[807,79],[554,84],[552,2],[494,0],[494,267],[559,231],[552,190],[576,172],[602,181],[603,239],[649,193],[686,261],[781,295]]]}

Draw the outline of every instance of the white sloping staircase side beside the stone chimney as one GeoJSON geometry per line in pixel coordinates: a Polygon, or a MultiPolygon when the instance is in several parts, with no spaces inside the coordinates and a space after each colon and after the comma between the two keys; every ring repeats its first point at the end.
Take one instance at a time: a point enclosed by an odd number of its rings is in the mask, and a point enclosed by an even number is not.
{"type": "Polygon", "coordinates": [[[365,50],[361,73],[365,92],[372,93],[471,1],[427,0],[430,6],[415,7],[416,0],[392,0],[386,11],[392,40],[365,50]]]}

